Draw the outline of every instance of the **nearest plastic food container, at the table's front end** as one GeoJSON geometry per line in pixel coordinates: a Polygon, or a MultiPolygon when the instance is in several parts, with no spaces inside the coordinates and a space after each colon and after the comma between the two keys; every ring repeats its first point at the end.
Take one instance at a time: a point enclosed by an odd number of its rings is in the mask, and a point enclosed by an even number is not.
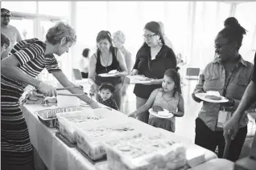
{"type": "Polygon", "coordinates": [[[130,136],[104,143],[111,170],[170,170],[186,164],[186,148],[164,136],[130,136]]]}

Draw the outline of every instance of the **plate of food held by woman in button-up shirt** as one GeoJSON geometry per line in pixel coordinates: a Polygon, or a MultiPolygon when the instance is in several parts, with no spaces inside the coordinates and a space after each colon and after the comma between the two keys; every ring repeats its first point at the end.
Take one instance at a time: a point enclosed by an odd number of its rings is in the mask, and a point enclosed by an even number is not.
{"type": "Polygon", "coordinates": [[[206,93],[196,93],[197,98],[209,103],[226,103],[229,99],[221,96],[218,91],[207,91],[206,93]]]}

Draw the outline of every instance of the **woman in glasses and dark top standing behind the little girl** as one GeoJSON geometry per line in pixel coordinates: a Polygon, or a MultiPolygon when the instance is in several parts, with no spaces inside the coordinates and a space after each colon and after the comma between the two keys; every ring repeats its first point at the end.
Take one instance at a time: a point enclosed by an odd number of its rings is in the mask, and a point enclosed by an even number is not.
{"type": "MultiPolygon", "coordinates": [[[[136,55],[131,75],[145,75],[155,80],[151,83],[135,85],[137,109],[147,102],[152,91],[161,87],[164,72],[177,66],[175,54],[170,47],[165,45],[162,29],[158,22],[147,22],[144,26],[143,38],[144,42],[136,55]]],[[[148,123],[148,118],[148,111],[138,115],[138,119],[144,123],[148,123]]]]}

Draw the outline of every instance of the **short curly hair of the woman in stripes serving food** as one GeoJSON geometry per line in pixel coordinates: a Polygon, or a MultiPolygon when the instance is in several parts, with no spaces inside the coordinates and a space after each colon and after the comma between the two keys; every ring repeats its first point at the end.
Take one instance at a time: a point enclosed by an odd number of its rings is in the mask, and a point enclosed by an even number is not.
{"type": "Polygon", "coordinates": [[[76,31],[65,22],[57,22],[46,34],[47,42],[52,43],[52,45],[56,45],[64,37],[66,38],[66,42],[76,42],[76,31]]]}

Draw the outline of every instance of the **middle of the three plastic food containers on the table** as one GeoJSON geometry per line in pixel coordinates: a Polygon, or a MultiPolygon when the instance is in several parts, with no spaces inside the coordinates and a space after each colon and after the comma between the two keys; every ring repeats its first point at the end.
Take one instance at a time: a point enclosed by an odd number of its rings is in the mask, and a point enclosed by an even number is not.
{"type": "Polygon", "coordinates": [[[92,160],[100,160],[105,157],[103,142],[118,140],[124,136],[134,136],[145,129],[142,123],[136,121],[138,120],[133,118],[101,119],[97,123],[76,124],[76,145],[92,160]]]}

